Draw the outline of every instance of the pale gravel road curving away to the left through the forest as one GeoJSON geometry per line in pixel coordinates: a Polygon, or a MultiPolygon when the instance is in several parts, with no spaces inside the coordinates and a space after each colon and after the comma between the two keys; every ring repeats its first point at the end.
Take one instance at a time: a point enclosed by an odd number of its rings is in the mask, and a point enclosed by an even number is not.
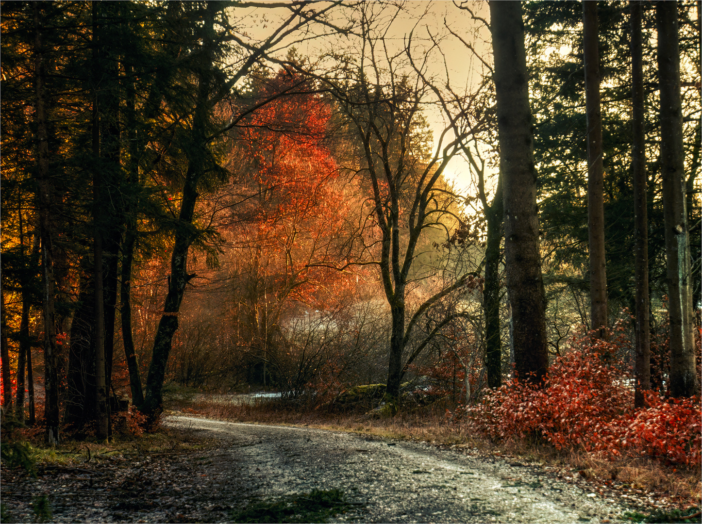
{"type": "Polygon", "coordinates": [[[220,438],[213,466],[240,487],[240,497],[338,488],[364,504],[332,522],[614,523],[626,511],[540,464],[471,450],[186,416],[165,422],[220,438]]]}

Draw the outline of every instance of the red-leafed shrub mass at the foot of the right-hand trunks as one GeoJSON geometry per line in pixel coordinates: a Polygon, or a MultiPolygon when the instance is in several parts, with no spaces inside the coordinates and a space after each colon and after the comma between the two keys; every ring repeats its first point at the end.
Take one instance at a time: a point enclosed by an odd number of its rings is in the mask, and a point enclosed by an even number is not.
{"type": "Polygon", "coordinates": [[[634,410],[630,372],[611,364],[626,343],[623,335],[574,341],[573,351],[551,366],[543,389],[510,380],[453,418],[493,438],[536,436],[557,449],[700,464],[700,398],[666,400],[652,392],[647,408],[634,410]]]}

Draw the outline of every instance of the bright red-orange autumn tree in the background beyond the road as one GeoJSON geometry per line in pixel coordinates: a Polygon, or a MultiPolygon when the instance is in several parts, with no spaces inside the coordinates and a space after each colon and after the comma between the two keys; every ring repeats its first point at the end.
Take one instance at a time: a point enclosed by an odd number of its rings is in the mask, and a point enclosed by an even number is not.
{"type": "Polygon", "coordinates": [[[286,334],[287,325],[300,327],[300,318],[310,321],[307,310],[328,316],[340,308],[350,275],[329,266],[354,258],[348,239],[356,210],[344,182],[355,184],[340,180],[331,155],[330,102],[314,93],[314,81],[289,69],[257,79],[252,97],[265,100],[276,93],[286,95],[232,130],[237,143],[230,152],[233,187],[225,189],[237,196],[219,204],[227,209],[223,222],[236,224],[220,231],[228,230],[234,251],[227,269],[237,325],[245,333],[242,349],[263,380],[276,370],[279,376],[289,371],[285,356],[296,344],[286,334]]]}

